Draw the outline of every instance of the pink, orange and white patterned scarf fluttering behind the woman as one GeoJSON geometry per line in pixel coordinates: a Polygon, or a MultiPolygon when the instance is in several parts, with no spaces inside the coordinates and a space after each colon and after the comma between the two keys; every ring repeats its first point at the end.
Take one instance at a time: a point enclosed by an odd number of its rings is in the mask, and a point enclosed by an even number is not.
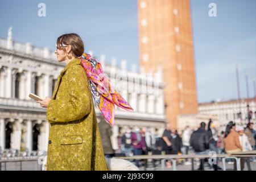
{"type": "Polygon", "coordinates": [[[109,79],[104,75],[101,64],[96,59],[88,53],[83,53],[79,59],[86,71],[92,96],[110,125],[114,125],[115,105],[133,111],[128,102],[112,88],[109,79]]]}

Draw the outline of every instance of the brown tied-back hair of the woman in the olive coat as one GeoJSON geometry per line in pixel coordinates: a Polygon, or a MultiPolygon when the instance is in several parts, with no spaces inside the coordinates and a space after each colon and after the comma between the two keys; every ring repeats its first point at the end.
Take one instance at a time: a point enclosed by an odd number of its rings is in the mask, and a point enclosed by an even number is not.
{"type": "Polygon", "coordinates": [[[71,45],[71,50],[76,57],[80,57],[84,53],[84,43],[77,34],[63,34],[57,39],[57,47],[65,51],[63,44],[71,45]]]}

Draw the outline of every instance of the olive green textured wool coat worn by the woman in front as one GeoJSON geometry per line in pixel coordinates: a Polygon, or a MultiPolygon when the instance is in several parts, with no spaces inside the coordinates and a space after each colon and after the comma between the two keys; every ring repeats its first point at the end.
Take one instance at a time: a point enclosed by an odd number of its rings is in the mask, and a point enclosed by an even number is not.
{"type": "Polygon", "coordinates": [[[88,78],[79,59],[61,71],[47,120],[47,170],[108,170],[88,78]]]}

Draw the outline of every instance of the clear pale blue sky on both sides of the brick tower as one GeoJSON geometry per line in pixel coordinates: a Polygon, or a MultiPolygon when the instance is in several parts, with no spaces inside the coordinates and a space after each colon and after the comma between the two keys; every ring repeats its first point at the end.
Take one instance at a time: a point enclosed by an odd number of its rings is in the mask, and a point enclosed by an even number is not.
{"type": "MultiPolygon", "coordinates": [[[[199,102],[237,98],[236,65],[241,96],[246,97],[245,73],[254,96],[256,1],[191,0],[191,10],[199,102]],[[211,2],[217,5],[214,18],[208,16],[211,2]]],[[[126,59],[128,68],[139,65],[136,0],[0,1],[0,24],[0,37],[12,26],[14,40],[52,50],[58,36],[76,32],[85,51],[105,54],[107,61],[126,59]],[[40,2],[46,4],[46,17],[38,16],[40,2]]]]}

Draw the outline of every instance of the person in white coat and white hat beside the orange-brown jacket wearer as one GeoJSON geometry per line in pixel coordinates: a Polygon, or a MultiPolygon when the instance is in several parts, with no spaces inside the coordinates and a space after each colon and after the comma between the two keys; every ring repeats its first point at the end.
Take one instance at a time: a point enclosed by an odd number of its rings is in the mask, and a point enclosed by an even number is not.
{"type": "MultiPolygon", "coordinates": [[[[236,127],[236,131],[238,132],[239,134],[239,140],[240,140],[240,144],[242,146],[242,151],[243,152],[246,152],[246,151],[251,151],[253,150],[253,148],[251,147],[251,144],[249,142],[249,139],[248,137],[245,135],[244,133],[244,129],[243,127],[241,126],[237,126],[236,127]]],[[[246,163],[247,163],[247,168],[249,171],[251,171],[251,166],[250,166],[250,160],[249,158],[244,158],[244,159],[241,159],[241,160],[246,160],[246,163]]],[[[242,163],[241,163],[242,164],[242,163]]],[[[241,169],[244,168],[244,165],[241,165],[241,169]]]]}

